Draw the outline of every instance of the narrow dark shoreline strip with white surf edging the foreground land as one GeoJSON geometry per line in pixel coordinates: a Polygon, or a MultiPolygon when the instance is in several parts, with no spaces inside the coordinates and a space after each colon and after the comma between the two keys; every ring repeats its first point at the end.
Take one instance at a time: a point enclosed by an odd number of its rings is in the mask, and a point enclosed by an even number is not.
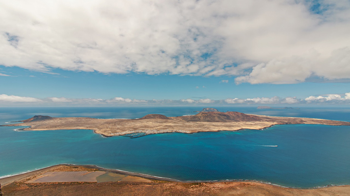
{"type": "Polygon", "coordinates": [[[136,173],[136,172],[130,172],[130,171],[124,171],[120,169],[109,169],[109,168],[104,168],[96,165],[76,165],[76,164],[57,164],[53,166],[47,166],[43,167],[40,169],[35,169],[33,171],[27,171],[27,172],[21,172],[19,174],[14,174],[14,175],[5,175],[0,177],[0,182],[2,186],[9,185],[15,181],[20,181],[25,178],[29,178],[31,176],[36,175],[39,172],[45,172],[46,170],[53,169],[58,166],[84,166],[86,168],[93,168],[93,169],[98,169],[99,171],[106,171],[110,173],[116,173],[116,174],[122,174],[122,175],[130,175],[130,176],[135,176],[135,177],[140,177],[140,178],[145,178],[148,180],[158,180],[158,181],[169,181],[169,182],[180,182],[180,183],[215,183],[215,182],[254,182],[254,183],[261,183],[261,184],[267,184],[267,185],[272,185],[276,187],[281,187],[281,188],[287,188],[287,189],[298,189],[298,190],[313,190],[313,189],[322,189],[322,188],[327,188],[327,187],[338,187],[338,186],[350,186],[350,184],[329,184],[326,186],[316,186],[316,187],[307,187],[307,188],[302,188],[302,187],[289,187],[289,186],[282,186],[279,184],[274,184],[271,182],[265,182],[265,181],[257,181],[257,180],[210,180],[210,181],[181,181],[181,180],[176,180],[176,179],[171,179],[171,178],[166,178],[166,177],[159,177],[159,176],[152,176],[148,174],[142,174],[142,173],[136,173]]]}

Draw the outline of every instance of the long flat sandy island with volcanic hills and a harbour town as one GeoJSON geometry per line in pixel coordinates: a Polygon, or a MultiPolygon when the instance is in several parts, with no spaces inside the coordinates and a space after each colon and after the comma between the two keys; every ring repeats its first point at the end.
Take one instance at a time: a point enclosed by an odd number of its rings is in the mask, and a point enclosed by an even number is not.
{"type": "Polygon", "coordinates": [[[23,123],[1,126],[28,126],[21,130],[89,129],[103,136],[145,136],[159,133],[197,133],[264,129],[277,124],[350,125],[347,121],[312,118],[273,117],[240,112],[200,112],[191,116],[166,117],[148,114],[140,119],[53,118],[34,116],[23,123]]]}

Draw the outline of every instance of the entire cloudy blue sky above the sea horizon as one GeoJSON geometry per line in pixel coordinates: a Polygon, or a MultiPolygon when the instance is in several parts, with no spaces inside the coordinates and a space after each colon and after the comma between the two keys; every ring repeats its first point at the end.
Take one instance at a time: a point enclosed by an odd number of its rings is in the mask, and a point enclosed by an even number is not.
{"type": "Polygon", "coordinates": [[[0,106],[349,106],[349,0],[0,0],[0,106]]]}

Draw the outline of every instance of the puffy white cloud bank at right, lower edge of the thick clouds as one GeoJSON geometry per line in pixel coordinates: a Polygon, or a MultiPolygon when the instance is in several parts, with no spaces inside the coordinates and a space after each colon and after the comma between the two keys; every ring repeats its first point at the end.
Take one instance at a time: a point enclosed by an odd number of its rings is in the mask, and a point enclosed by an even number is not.
{"type": "Polygon", "coordinates": [[[253,67],[249,75],[235,78],[236,83],[291,84],[305,81],[311,75],[327,79],[350,78],[350,47],[331,51],[324,57],[315,49],[306,54],[282,59],[273,59],[253,67]]]}

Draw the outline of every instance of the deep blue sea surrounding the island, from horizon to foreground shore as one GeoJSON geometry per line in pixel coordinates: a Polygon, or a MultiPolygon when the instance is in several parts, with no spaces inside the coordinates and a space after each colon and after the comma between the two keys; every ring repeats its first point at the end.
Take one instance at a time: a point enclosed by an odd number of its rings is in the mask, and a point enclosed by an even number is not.
{"type": "MultiPolygon", "coordinates": [[[[216,107],[270,116],[350,121],[350,108],[259,110],[216,107]]],[[[0,124],[34,115],[140,118],[182,116],[202,107],[0,108],[0,124]]],[[[277,125],[264,130],[102,137],[91,130],[14,131],[0,127],[0,176],[56,164],[88,164],[182,181],[256,180],[311,188],[350,184],[350,127],[277,125]],[[269,147],[278,145],[278,147],[269,147]]]]}

